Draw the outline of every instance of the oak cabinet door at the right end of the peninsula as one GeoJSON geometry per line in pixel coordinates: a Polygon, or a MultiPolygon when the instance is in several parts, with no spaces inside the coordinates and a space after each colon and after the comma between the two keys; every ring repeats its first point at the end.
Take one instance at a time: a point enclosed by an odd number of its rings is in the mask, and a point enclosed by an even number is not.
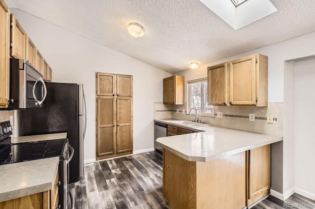
{"type": "Polygon", "coordinates": [[[270,145],[246,151],[246,205],[270,193],[270,145]]]}

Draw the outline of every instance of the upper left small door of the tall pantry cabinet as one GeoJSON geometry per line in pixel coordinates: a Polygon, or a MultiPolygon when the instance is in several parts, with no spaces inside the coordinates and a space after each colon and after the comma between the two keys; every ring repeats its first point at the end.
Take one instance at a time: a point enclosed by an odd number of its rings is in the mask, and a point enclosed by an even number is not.
{"type": "Polygon", "coordinates": [[[96,73],[96,95],[115,96],[116,77],[114,74],[96,73]]]}

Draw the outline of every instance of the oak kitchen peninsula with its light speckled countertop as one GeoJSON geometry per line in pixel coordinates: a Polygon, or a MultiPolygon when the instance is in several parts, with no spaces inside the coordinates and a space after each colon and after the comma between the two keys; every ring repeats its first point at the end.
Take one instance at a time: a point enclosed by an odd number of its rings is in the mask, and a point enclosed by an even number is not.
{"type": "MultiPolygon", "coordinates": [[[[174,125],[172,120],[155,121],[174,125]]],[[[170,209],[243,209],[269,194],[270,144],[283,137],[215,126],[190,129],[199,132],[156,141],[163,148],[163,196],[170,209]]]]}

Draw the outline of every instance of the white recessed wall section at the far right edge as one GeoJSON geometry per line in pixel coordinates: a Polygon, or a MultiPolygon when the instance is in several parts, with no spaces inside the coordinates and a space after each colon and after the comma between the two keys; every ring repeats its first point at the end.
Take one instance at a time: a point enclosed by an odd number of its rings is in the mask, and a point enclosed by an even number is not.
{"type": "Polygon", "coordinates": [[[294,63],[294,186],[315,200],[315,57],[294,63]]]}

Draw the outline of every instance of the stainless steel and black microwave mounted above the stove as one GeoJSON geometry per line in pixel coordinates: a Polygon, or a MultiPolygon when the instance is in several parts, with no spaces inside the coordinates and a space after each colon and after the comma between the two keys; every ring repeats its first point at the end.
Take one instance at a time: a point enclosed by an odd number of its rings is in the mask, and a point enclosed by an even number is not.
{"type": "Polygon", "coordinates": [[[42,107],[46,95],[43,76],[27,60],[10,58],[10,97],[7,109],[42,107]]]}

